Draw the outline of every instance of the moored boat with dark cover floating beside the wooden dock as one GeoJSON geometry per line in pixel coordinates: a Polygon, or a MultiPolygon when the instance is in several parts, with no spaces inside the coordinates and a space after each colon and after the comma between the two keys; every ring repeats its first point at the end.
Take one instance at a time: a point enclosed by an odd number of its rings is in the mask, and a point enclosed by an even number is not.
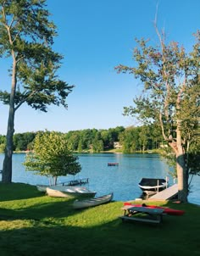
{"type": "Polygon", "coordinates": [[[164,179],[142,178],[138,186],[140,186],[143,192],[158,192],[164,190],[168,186],[168,181],[164,179]]]}

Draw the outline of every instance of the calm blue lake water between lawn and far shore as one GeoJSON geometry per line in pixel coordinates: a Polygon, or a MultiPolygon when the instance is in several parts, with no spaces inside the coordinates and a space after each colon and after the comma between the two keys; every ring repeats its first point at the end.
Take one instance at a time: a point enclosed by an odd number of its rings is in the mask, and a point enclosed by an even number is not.
{"type": "MultiPolygon", "coordinates": [[[[158,154],[122,154],[122,153],[95,153],[78,154],[81,164],[81,173],[75,179],[89,178],[86,186],[97,192],[97,196],[114,192],[114,200],[127,201],[140,198],[142,191],[138,183],[142,177],[165,178],[169,177],[169,185],[173,179],[169,175],[169,166],[158,154]],[[108,166],[108,163],[119,163],[119,166],[108,166]]],[[[0,154],[0,169],[3,166],[4,155],[0,154]]],[[[13,182],[23,182],[31,185],[48,184],[47,177],[35,175],[32,171],[25,171],[22,164],[25,153],[14,153],[13,182]]],[[[74,176],[59,177],[58,182],[73,180],[74,176]]],[[[192,181],[192,192],[188,200],[190,203],[200,204],[200,177],[195,176],[192,181]]]]}

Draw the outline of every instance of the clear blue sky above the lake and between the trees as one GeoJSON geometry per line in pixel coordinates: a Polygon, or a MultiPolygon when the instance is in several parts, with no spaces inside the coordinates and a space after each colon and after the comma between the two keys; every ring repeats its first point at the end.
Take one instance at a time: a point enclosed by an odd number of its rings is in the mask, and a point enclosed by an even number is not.
{"type": "MultiPolygon", "coordinates": [[[[134,65],[131,50],[136,37],[158,42],[153,27],[157,4],[158,28],[164,28],[168,41],[191,50],[192,33],[200,29],[199,0],[47,0],[58,27],[53,49],[64,55],[58,75],[75,88],[68,97],[68,110],[52,106],[45,114],[21,106],[15,115],[15,132],[136,125],[122,113],[142,86],[132,75],[117,74],[114,66],[134,65]]],[[[0,59],[3,90],[9,91],[6,64],[0,59]]],[[[8,107],[0,104],[0,113],[0,134],[6,134],[8,107]]]]}

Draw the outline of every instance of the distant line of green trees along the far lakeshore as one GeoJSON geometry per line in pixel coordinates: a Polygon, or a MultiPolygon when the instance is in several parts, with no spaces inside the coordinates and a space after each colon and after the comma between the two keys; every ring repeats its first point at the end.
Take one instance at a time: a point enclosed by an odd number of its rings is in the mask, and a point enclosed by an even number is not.
{"type": "MultiPolygon", "coordinates": [[[[37,131],[40,132],[40,131],[37,131]]],[[[27,151],[33,147],[37,132],[14,134],[14,151],[27,151]]],[[[61,133],[61,132],[58,132],[61,133]]],[[[108,130],[86,129],[64,133],[69,148],[74,152],[99,153],[108,150],[119,150],[123,153],[134,153],[159,148],[162,136],[154,125],[139,127],[117,126],[108,130]]],[[[5,148],[5,136],[0,135],[0,151],[5,148]]]]}

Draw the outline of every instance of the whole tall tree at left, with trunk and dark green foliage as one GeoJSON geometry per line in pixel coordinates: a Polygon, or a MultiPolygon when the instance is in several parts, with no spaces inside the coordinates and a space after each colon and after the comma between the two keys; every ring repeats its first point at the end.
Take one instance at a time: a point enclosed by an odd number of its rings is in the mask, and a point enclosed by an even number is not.
{"type": "Polygon", "coordinates": [[[73,86],[56,75],[61,59],[53,52],[56,26],[48,20],[46,0],[0,0],[0,57],[10,58],[11,90],[0,91],[8,104],[8,129],[3,182],[12,181],[15,112],[23,103],[47,112],[50,104],[67,108],[66,97],[73,86]]]}

